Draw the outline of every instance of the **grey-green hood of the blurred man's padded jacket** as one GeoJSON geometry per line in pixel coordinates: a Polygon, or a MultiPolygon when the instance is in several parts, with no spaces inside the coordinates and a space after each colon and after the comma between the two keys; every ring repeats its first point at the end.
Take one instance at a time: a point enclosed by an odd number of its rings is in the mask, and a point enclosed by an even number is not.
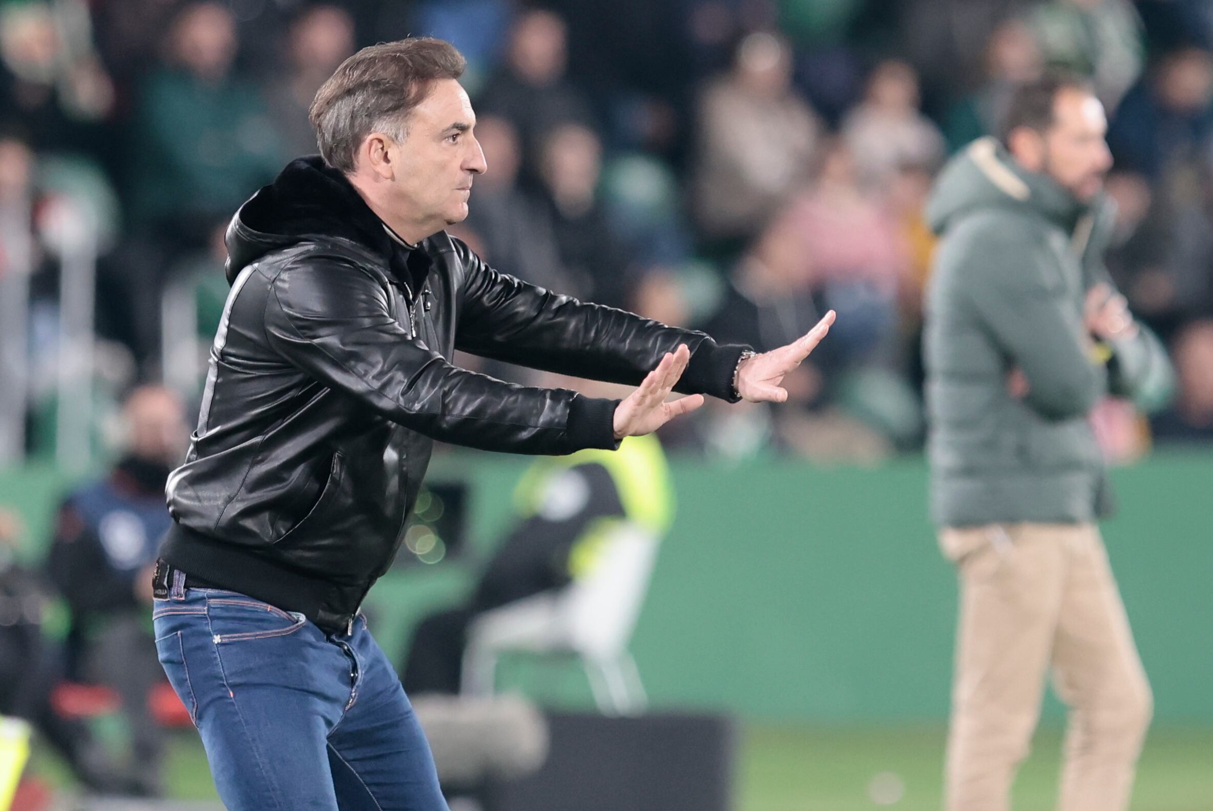
{"type": "Polygon", "coordinates": [[[1029,172],[993,138],[980,138],[940,172],[927,222],[944,234],[966,215],[990,209],[1032,210],[1071,230],[1088,206],[1052,178],[1029,172]]]}

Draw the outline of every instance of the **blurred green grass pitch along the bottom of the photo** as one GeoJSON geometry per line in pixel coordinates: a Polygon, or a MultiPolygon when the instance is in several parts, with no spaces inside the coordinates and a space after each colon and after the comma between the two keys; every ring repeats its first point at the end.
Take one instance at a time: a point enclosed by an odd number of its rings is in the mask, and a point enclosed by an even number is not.
{"type": "MultiPolygon", "coordinates": [[[[1060,748],[1060,730],[1042,730],[1036,736],[1032,754],[1020,770],[1015,811],[1053,810],[1060,748]]],[[[939,811],[943,759],[944,730],[938,726],[750,725],[742,736],[735,809],[939,811]]],[[[57,786],[68,782],[62,764],[44,749],[35,753],[33,767],[57,786]]],[[[215,799],[201,744],[190,731],[172,736],[167,782],[176,799],[215,799]]],[[[1152,730],[1132,809],[1213,809],[1213,730],[1152,730]]]]}

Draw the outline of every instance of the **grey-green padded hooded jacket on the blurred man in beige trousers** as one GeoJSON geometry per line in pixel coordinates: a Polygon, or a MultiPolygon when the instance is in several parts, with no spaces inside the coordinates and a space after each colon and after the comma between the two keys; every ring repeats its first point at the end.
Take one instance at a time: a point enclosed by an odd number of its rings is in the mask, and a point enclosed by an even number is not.
{"type": "Polygon", "coordinates": [[[991,138],[940,175],[923,337],[938,525],[1110,513],[1088,413],[1109,393],[1157,402],[1171,379],[1149,331],[1100,353],[1083,326],[1087,290],[1111,284],[1103,255],[1114,213],[1103,200],[1080,205],[991,138]],[[1008,388],[1016,369],[1030,387],[1023,398],[1008,388]]]}

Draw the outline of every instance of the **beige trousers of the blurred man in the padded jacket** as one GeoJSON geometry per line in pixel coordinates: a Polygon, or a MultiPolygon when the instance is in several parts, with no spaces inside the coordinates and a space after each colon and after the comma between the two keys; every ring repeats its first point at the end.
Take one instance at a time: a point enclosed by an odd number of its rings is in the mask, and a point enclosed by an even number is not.
{"type": "Polygon", "coordinates": [[[949,529],[959,624],[945,767],[947,811],[1006,811],[1044,676],[1070,708],[1059,811],[1123,811],[1152,699],[1099,530],[949,529]]]}

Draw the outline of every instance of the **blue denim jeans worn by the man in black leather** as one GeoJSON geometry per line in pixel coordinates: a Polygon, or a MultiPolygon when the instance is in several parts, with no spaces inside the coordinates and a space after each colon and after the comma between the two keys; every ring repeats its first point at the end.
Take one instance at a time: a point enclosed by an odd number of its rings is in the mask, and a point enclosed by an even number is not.
{"type": "Polygon", "coordinates": [[[228,811],[448,811],[365,617],[326,635],[243,594],[177,586],[153,619],[228,811]]]}

